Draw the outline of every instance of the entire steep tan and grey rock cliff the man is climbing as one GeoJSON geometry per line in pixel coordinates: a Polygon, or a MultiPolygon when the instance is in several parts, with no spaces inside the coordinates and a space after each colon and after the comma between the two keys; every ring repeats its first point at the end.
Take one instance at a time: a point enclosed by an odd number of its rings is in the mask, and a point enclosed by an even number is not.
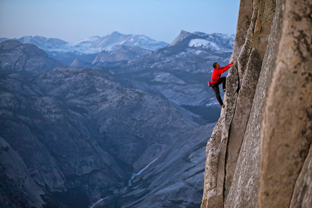
{"type": "Polygon", "coordinates": [[[310,207],[311,11],[306,1],[241,1],[226,89],[240,85],[225,93],[206,147],[201,207],[310,207]]]}

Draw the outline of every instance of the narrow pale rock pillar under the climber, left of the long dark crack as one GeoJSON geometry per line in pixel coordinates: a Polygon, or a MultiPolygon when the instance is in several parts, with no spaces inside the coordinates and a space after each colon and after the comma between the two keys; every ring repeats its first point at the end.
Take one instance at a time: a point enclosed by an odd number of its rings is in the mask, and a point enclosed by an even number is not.
{"type": "Polygon", "coordinates": [[[237,100],[237,68],[230,67],[226,79],[225,108],[206,147],[204,194],[201,207],[223,207],[224,163],[227,135],[237,100]]]}

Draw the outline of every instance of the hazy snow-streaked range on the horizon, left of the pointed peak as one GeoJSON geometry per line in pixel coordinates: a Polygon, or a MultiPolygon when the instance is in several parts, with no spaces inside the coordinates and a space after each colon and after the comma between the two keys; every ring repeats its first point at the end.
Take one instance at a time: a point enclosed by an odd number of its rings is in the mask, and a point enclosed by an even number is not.
{"type": "MultiPolygon", "coordinates": [[[[0,38],[0,43],[6,40],[10,39],[0,38]]],[[[129,56],[135,58],[146,53],[145,51],[154,51],[169,45],[166,42],[150,39],[145,35],[124,35],[119,32],[113,32],[112,34],[104,37],[93,36],[74,42],[66,42],[57,38],[45,38],[40,36],[24,36],[19,39],[14,38],[13,40],[17,40],[23,44],[30,43],[36,45],[40,49],[44,50],[49,57],[59,60],[63,65],[67,66],[71,65],[75,59],[80,59],[84,62],[87,61],[88,63],[84,64],[85,66],[91,65],[99,52],[107,51],[107,54],[111,55],[112,53],[115,53],[115,51],[119,50],[119,46],[141,48],[141,52],[135,54],[134,56],[132,55],[133,57],[129,56]]],[[[130,59],[126,59],[126,61],[127,60],[130,59]]],[[[74,65],[76,65],[76,63],[77,60],[74,65]]],[[[111,65],[111,63],[109,65],[111,65]]]]}

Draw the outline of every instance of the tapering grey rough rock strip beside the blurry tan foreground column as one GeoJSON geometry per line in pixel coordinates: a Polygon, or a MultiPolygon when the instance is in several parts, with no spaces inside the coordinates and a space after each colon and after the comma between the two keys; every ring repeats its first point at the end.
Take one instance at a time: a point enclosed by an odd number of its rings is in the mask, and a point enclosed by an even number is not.
{"type": "Polygon", "coordinates": [[[231,187],[226,199],[226,207],[258,207],[259,187],[259,146],[262,111],[270,68],[275,60],[278,39],[277,29],[280,20],[280,4],[276,4],[271,32],[263,59],[253,105],[249,115],[241,151],[235,168],[231,187]]]}

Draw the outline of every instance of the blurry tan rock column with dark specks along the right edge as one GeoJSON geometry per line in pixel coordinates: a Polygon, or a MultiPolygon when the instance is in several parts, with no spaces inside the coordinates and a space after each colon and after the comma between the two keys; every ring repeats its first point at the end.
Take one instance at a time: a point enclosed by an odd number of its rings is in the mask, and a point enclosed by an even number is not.
{"type": "Polygon", "coordinates": [[[287,207],[292,195],[299,195],[293,189],[312,140],[312,5],[303,0],[282,3],[281,38],[260,136],[263,207],[287,207]]]}

